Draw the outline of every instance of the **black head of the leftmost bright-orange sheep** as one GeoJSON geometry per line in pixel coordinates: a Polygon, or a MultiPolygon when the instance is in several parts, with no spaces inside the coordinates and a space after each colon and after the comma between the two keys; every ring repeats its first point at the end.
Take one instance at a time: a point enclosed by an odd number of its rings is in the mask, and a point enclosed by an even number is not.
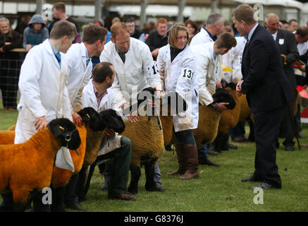
{"type": "Polygon", "coordinates": [[[79,148],[80,136],[72,121],[65,118],[54,119],[49,122],[48,128],[54,134],[54,137],[60,141],[61,146],[72,150],[79,148]]]}

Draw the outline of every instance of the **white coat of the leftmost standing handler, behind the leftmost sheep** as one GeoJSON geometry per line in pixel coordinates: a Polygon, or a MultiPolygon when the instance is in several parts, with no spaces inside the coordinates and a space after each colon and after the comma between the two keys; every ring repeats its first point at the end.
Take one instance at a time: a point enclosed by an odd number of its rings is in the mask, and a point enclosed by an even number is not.
{"type": "Polygon", "coordinates": [[[20,69],[21,101],[15,143],[23,143],[37,132],[35,121],[38,117],[45,116],[47,124],[62,117],[72,121],[67,76],[66,59],[61,53],[60,69],[49,40],[30,49],[20,69]]]}

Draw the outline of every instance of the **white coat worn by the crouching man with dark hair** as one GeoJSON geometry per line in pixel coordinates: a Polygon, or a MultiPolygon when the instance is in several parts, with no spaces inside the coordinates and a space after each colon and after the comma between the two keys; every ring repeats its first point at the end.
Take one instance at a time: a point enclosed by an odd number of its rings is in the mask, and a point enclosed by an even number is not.
{"type": "MultiPolygon", "coordinates": [[[[114,109],[116,111],[120,110],[120,105],[116,100],[115,94],[111,88],[107,89],[107,94],[101,98],[99,105],[97,104],[97,97],[94,93],[93,80],[90,79],[89,83],[85,86],[82,91],[82,106],[83,107],[92,107],[97,112],[104,111],[106,109],[114,109]]],[[[116,136],[113,139],[103,138],[101,142],[101,147],[99,148],[98,155],[104,155],[115,150],[116,148],[121,147],[121,136],[116,136]]]]}

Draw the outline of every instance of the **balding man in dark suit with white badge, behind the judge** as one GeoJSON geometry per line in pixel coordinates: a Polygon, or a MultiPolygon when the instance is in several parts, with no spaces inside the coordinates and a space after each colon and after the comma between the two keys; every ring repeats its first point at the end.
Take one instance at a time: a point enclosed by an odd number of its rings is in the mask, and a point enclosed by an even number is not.
{"type": "MultiPolygon", "coordinates": [[[[283,57],[283,71],[288,78],[292,90],[295,90],[297,82],[294,74],[293,64],[295,61],[298,60],[300,54],[297,50],[297,43],[294,34],[288,30],[278,29],[278,24],[279,18],[275,13],[269,13],[266,16],[264,26],[273,36],[273,39],[276,40],[278,49],[281,51],[283,57]]],[[[281,133],[285,138],[285,141],[283,141],[283,145],[285,145],[285,150],[287,151],[295,150],[295,142],[293,141],[294,128],[292,125],[293,115],[293,106],[290,105],[286,109],[284,119],[281,123],[281,133]]]]}

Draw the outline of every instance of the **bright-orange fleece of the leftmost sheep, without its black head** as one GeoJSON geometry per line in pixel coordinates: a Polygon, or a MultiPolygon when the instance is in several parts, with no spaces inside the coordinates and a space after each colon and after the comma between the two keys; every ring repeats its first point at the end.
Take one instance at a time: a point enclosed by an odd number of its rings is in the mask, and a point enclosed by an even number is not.
{"type": "Polygon", "coordinates": [[[60,147],[49,129],[25,143],[0,145],[0,191],[11,189],[14,202],[26,203],[31,191],[48,187],[60,147]]]}

